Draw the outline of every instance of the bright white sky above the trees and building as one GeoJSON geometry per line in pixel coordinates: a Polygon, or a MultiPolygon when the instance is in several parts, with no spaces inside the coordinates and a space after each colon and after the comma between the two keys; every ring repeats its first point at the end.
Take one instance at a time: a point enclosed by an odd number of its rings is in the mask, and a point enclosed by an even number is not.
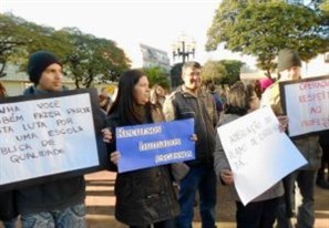
{"type": "MultiPolygon", "coordinates": [[[[235,59],[254,68],[255,60],[224,50],[205,51],[206,33],[222,0],[1,0],[0,12],[54,29],[76,27],[83,33],[113,40],[142,66],[140,44],[168,53],[182,34],[196,41],[195,60],[235,59]]],[[[176,59],[177,61],[177,59],[176,59]]]]}

